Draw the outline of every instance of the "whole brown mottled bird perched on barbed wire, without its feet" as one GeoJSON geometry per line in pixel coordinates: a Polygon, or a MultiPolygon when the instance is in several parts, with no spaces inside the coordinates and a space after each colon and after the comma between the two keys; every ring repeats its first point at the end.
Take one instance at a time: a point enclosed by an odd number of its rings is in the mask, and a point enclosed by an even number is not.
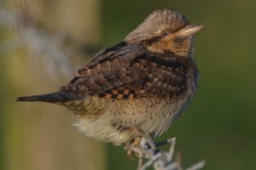
{"type": "Polygon", "coordinates": [[[113,144],[160,136],[195,93],[193,35],[202,27],[176,11],[156,10],[59,92],[17,100],[64,105],[79,116],[86,135],[113,144]]]}

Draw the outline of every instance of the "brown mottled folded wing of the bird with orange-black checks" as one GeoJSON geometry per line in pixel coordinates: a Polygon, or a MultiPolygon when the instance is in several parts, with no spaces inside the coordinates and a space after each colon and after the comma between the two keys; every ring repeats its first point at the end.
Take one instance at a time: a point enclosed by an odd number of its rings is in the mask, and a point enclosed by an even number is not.
{"type": "Polygon", "coordinates": [[[187,88],[185,66],[183,60],[168,54],[152,54],[136,47],[116,48],[102,52],[76,71],[61,90],[112,99],[177,96],[187,88]]]}

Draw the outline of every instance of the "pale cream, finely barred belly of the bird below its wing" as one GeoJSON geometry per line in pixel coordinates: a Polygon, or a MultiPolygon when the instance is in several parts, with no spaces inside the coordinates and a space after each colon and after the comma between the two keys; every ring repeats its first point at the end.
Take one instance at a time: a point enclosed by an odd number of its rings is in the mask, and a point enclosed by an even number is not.
{"type": "MultiPolygon", "coordinates": [[[[87,98],[88,99],[88,98],[87,98]]],[[[123,144],[147,133],[160,136],[170,126],[173,116],[183,108],[184,99],[103,99],[84,101],[86,112],[76,126],[87,136],[101,141],[123,144]]]]}

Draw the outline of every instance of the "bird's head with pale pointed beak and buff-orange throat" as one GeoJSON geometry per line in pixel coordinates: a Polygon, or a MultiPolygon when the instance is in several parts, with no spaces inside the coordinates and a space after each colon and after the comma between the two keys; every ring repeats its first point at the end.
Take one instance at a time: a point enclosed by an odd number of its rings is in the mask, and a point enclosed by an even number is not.
{"type": "Polygon", "coordinates": [[[125,42],[141,45],[155,53],[191,56],[193,35],[203,27],[189,25],[189,20],[177,11],[161,9],[149,14],[141,25],[125,37],[125,42]]]}

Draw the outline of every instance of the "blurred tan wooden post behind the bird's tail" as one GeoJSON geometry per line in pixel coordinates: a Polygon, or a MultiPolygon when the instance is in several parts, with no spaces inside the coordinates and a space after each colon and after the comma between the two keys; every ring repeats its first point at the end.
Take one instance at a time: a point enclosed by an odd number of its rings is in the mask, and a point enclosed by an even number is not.
{"type": "MultiPolygon", "coordinates": [[[[26,8],[43,26],[68,32],[73,38],[89,44],[99,42],[101,37],[100,3],[100,0],[9,0],[10,6],[26,8]]],[[[6,58],[9,65],[6,70],[9,77],[7,169],[106,169],[103,144],[79,133],[72,126],[73,114],[66,108],[43,103],[15,103],[18,95],[43,94],[59,88],[59,84],[35,70],[27,55],[26,49],[20,49],[6,58]]],[[[71,77],[72,72],[62,84],[71,77]]]]}

